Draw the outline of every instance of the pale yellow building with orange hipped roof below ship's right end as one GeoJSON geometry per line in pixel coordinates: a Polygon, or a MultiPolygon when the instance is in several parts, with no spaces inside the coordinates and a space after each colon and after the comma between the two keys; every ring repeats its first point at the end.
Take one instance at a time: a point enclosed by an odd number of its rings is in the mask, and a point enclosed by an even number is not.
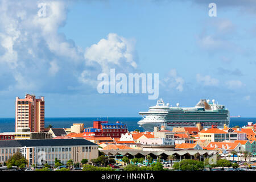
{"type": "Polygon", "coordinates": [[[199,132],[200,139],[206,139],[210,142],[223,142],[229,140],[229,133],[217,128],[204,129],[199,132]]]}

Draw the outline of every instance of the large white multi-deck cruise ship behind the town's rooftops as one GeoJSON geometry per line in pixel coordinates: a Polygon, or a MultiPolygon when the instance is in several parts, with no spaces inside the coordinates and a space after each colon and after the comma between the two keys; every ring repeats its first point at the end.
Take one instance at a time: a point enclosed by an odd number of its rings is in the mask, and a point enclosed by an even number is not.
{"type": "Polygon", "coordinates": [[[164,104],[162,99],[148,111],[139,112],[142,115],[138,122],[145,131],[154,131],[155,126],[166,126],[167,130],[174,127],[196,127],[200,123],[203,128],[212,125],[223,128],[224,124],[229,127],[230,115],[224,105],[216,104],[214,100],[201,99],[195,107],[176,107],[164,104]]]}

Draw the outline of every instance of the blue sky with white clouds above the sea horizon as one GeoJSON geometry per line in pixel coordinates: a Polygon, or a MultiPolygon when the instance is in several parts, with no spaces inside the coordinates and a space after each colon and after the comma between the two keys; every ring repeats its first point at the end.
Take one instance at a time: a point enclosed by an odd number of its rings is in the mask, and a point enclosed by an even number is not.
{"type": "Polygon", "coordinates": [[[98,94],[97,75],[159,73],[159,98],[224,104],[255,117],[256,2],[1,1],[0,117],[15,97],[46,97],[46,117],[139,117],[147,94],[98,94]],[[46,17],[38,4],[46,3],[46,17]],[[128,55],[128,57],[127,57],[128,55]]]}

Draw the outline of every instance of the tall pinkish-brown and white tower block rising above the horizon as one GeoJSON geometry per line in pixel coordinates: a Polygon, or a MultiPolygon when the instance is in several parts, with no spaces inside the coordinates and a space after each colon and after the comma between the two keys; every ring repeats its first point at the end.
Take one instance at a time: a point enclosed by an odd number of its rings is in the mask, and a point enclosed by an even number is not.
{"type": "Polygon", "coordinates": [[[44,131],[44,97],[16,97],[15,131],[44,131]]]}

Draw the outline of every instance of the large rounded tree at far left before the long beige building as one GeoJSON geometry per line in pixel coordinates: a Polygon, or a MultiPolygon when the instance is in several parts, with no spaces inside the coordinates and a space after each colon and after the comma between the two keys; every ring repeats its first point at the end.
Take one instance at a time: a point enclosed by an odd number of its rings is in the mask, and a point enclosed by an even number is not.
{"type": "Polygon", "coordinates": [[[24,168],[28,164],[28,160],[20,152],[16,152],[9,160],[7,160],[7,167],[11,168],[16,166],[18,168],[24,168]]]}

